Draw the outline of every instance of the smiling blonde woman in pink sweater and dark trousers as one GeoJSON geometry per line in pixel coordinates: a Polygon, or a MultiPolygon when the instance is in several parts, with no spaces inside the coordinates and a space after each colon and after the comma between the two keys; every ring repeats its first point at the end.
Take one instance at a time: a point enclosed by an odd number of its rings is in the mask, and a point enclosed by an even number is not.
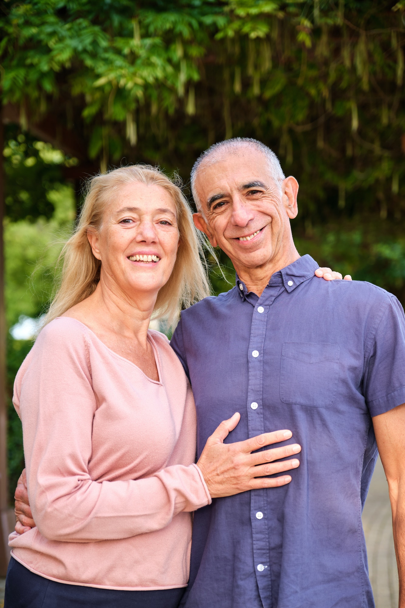
{"type": "Polygon", "coordinates": [[[223,443],[195,465],[190,385],[151,315],[207,294],[192,216],[160,171],[93,178],[64,248],[60,288],[23,362],[22,421],[36,527],[10,536],[6,608],[174,608],[189,577],[192,511],[213,497],[288,483],[288,430],[223,443]],[[266,464],[265,464],[266,463],[266,464]]]}

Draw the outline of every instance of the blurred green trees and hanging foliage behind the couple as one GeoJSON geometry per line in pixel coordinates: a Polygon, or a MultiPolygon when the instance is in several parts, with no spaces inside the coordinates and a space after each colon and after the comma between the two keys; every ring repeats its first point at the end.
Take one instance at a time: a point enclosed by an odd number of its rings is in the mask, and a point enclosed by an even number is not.
{"type": "MultiPolygon", "coordinates": [[[[255,137],[299,180],[300,254],[405,302],[405,2],[0,0],[8,393],[86,176],[255,137]],[[24,333],[25,332],[25,333],[24,333]]],[[[232,284],[230,261],[220,254],[232,284]]],[[[212,290],[230,288],[215,264],[212,290]]],[[[23,466],[10,401],[10,500],[23,466]]]]}

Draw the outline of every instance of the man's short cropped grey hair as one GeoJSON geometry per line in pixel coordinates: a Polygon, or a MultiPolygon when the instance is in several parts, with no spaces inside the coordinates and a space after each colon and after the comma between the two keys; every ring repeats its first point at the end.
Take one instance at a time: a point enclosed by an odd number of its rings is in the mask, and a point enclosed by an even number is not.
{"type": "Polygon", "coordinates": [[[281,182],[285,179],[285,174],[280,165],[280,161],[272,150],[263,142],[259,142],[257,139],[251,137],[232,137],[232,139],[226,139],[223,142],[213,143],[206,151],[204,151],[198,159],[195,161],[192,172],[191,172],[191,190],[194,202],[197,210],[201,212],[202,204],[198,198],[198,194],[195,187],[199,168],[202,164],[213,165],[218,161],[218,156],[221,157],[221,152],[229,152],[236,150],[242,146],[249,146],[254,148],[258,152],[261,152],[268,160],[271,177],[274,181],[281,185],[281,182]],[[210,158],[212,157],[212,158],[210,158]]]}

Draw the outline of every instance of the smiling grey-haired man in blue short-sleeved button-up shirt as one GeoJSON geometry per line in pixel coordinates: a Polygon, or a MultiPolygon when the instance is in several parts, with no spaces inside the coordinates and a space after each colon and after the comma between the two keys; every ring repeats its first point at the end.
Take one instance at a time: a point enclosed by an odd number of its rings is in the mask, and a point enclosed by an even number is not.
{"type": "Polygon", "coordinates": [[[227,442],[274,429],[302,445],[289,485],[195,513],[187,608],[372,608],[361,525],[377,446],[405,607],[405,320],[369,283],[326,282],[289,220],[296,179],[255,140],[196,162],[195,224],[229,255],[236,286],[182,312],[171,345],[189,375],[198,455],[235,410],[227,442]]]}

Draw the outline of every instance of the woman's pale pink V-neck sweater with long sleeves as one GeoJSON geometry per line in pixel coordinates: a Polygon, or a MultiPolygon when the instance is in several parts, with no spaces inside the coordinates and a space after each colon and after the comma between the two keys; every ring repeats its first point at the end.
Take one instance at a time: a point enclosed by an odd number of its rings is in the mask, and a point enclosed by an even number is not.
{"type": "Polygon", "coordinates": [[[41,331],[18,371],[37,527],[9,544],[32,572],[108,589],[187,585],[191,512],[211,499],[193,464],[189,382],[167,338],[148,339],[159,382],[68,317],[41,331]]]}

